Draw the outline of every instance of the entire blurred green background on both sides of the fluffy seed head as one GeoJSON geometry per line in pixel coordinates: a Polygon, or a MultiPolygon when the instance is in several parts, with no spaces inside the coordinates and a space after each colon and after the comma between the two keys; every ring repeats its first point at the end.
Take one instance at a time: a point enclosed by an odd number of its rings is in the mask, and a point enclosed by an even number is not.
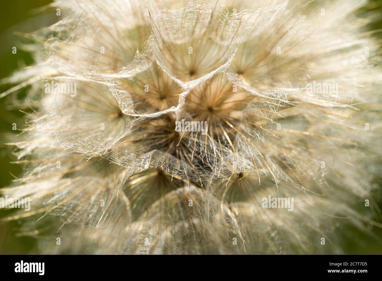
{"type": "MultiPolygon", "coordinates": [[[[43,13],[38,13],[37,8],[49,4],[49,0],[12,0],[1,1],[0,3],[0,79],[9,76],[13,71],[23,66],[31,65],[33,60],[27,52],[23,52],[20,42],[23,38],[14,34],[17,32],[32,32],[41,27],[49,26],[59,20],[55,9],[45,9],[43,13]],[[17,47],[17,54],[12,54],[12,47],[17,47]]],[[[370,1],[364,10],[379,10],[382,12],[381,1],[370,1]]],[[[369,25],[370,30],[382,29],[382,19],[369,25]]],[[[381,32],[376,33],[379,39],[381,32]]],[[[0,93],[10,88],[9,85],[0,85],[0,93]]],[[[17,95],[22,97],[26,90],[20,90],[17,95]]],[[[379,93],[380,94],[380,93],[379,93]]],[[[13,179],[11,173],[15,176],[21,174],[21,167],[11,164],[15,157],[11,151],[13,147],[5,145],[13,134],[12,123],[22,125],[24,123],[23,113],[10,106],[11,95],[0,100],[0,188],[8,186],[13,179]]],[[[380,180],[375,184],[381,186],[380,180]]],[[[379,207],[382,209],[382,200],[380,193],[376,194],[379,207]]],[[[0,214],[0,218],[1,218],[0,214]]],[[[36,240],[32,237],[17,237],[17,221],[10,223],[0,222],[0,254],[33,254],[36,252],[36,240]]],[[[355,228],[345,226],[342,233],[348,233],[343,238],[343,248],[347,254],[382,254],[382,245],[376,238],[367,236],[355,228]]],[[[375,237],[382,238],[382,229],[372,229],[375,237]]],[[[330,247],[330,245],[329,245],[330,247]]]]}

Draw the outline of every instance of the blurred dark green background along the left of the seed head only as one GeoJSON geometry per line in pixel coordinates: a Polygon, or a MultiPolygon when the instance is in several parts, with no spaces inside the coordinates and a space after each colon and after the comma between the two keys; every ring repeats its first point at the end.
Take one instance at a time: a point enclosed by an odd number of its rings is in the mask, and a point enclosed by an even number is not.
{"type": "MultiPolygon", "coordinates": [[[[32,32],[44,26],[49,26],[57,21],[55,10],[50,9],[44,13],[38,13],[37,8],[49,4],[50,0],[12,0],[0,2],[0,79],[5,78],[20,67],[31,65],[33,60],[29,53],[21,48],[23,37],[15,32],[32,32]],[[12,53],[12,47],[17,48],[17,53],[12,53]]],[[[12,85],[11,85],[12,86],[12,85]]],[[[0,85],[0,93],[5,92],[10,85],[0,85]]],[[[17,95],[23,97],[25,88],[17,95]]],[[[18,127],[24,124],[23,113],[18,109],[10,107],[11,95],[0,100],[0,188],[8,186],[13,179],[10,173],[15,176],[21,174],[22,168],[19,165],[11,164],[15,161],[12,155],[13,147],[5,145],[10,140],[12,123],[18,127]]],[[[0,214],[0,217],[2,214],[0,214]]],[[[0,254],[29,254],[34,249],[35,239],[31,237],[16,237],[18,223],[0,222],[0,254]]]]}

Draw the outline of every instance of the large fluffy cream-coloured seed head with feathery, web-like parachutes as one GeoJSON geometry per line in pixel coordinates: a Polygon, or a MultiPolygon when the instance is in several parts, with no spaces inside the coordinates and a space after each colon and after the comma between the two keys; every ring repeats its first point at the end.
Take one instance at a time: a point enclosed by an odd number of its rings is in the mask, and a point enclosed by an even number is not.
{"type": "Polygon", "coordinates": [[[57,0],[36,65],[5,80],[33,86],[10,143],[25,171],[1,190],[32,209],[5,220],[43,252],[341,253],[339,223],[382,226],[363,5],[57,0]]]}

